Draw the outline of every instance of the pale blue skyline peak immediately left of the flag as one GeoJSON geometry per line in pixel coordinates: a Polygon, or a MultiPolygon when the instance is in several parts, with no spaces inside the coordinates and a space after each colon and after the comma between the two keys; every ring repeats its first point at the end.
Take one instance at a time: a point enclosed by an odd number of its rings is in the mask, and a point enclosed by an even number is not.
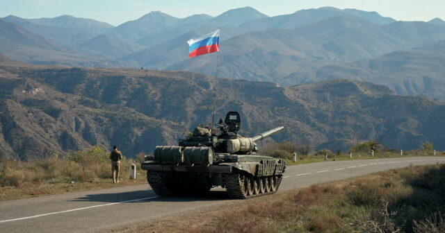
{"type": "Polygon", "coordinates": [[[120,24],[105,34],[119,37],[122,40],[135,42],[147,36],[149,33],[155,33],[165,28],[177,26],[179,21],[180,19],[164,14],[163,12],[152,11],[139,19],[120,24]]]}

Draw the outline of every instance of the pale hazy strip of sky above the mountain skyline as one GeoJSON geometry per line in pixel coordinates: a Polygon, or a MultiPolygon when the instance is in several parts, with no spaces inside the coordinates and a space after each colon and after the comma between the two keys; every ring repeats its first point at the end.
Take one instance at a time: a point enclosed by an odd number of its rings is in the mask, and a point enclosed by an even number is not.
{"type": "Polygon", "coordinates": [[[0,0],[0,17],[16,15],[29,19],[73,15],[117,26],[152,10],[182,18],[202,13],[216,16],[245,6],[269,16],[334,6],[376,11],[404,21],[428,21],[435,17],[445,20],[445,0],[0,0]]]}

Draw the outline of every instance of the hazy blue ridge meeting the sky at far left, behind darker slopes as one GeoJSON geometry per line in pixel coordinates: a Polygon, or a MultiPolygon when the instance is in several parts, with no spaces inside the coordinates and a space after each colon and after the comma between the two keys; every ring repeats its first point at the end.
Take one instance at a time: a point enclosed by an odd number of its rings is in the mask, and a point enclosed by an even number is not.
{"type": "Polygon", "coordinates": [[[3,20],[67,46],[76,46],[113,28],[112,25],[101,21],[70,15],[40,19],[22,19],[10,15],[3,20]]]}

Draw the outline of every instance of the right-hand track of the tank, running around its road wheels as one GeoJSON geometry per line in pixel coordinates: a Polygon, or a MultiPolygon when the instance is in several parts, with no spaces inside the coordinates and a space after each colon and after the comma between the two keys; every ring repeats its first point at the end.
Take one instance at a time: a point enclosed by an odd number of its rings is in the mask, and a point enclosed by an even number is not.
{"type": "Polygon", "coordinates": [[[258,191],[256,189],[252,189],[252,191],[249,191],[248,189],[245,188],[245,177],[249,178],[249,179],[254,179],[254,181],[256,182],[256,179],[260,179],[260,178],[255,178],[252,175],[248,175],[247,173],[243,173],[243,172],[238,172],[238,173],[232,173],[232,174],[227,174],[224,176],[224,184],[225,184],[225,188],[227,190],[227,194],[229,195],[229,198],[234,198],[234,199],[247,199],[247,198],[255,198],[258,196],[264,196],[264,195],[269,195],[269,194],[273,194],[276,193],[278,188],[280,187],[281,181],[282,181],[282,175],[273,175],[272,177],[269,178],[276,178],[276,184],[275,184],[275,191],[265,191],[262,192],[258,191]]]}

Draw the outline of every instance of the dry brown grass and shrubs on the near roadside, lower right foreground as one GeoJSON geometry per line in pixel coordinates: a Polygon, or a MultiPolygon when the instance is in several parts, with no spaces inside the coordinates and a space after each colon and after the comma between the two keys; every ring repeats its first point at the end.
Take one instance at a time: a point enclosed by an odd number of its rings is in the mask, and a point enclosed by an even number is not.
{"type": "Polygon", "coordinates": [[[444,212],[444,188],[445,166],[410,166],[234,201],[117,232],[426,232],[443,227],[443,218],[430,216],[444,212]]]}

